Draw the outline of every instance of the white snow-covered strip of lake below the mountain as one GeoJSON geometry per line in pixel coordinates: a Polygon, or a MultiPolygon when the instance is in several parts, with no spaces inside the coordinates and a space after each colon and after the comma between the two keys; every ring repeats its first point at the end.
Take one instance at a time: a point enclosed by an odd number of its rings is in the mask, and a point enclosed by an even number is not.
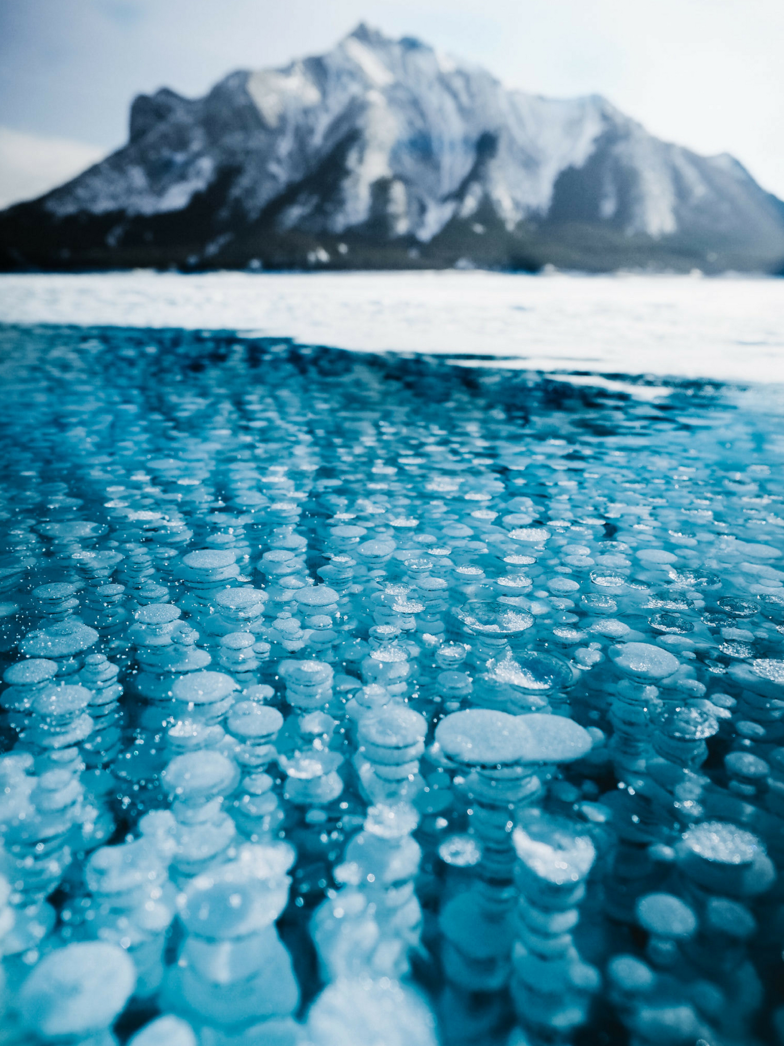
{"type": "Polygon", "coordinates": [[[549,372],[784,382],[784,282],[487,272],[0,276],[0,322],[238,329],[549,372]],[[477,361],[479,362],[479,361],[477,361]]]}

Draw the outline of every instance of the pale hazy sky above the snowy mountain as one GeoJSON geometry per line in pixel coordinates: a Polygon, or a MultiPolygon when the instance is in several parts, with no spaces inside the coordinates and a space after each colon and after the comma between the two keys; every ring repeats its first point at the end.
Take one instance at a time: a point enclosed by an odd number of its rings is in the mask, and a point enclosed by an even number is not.
{"type": "Polygon", "coordinates": [[[782,0],[0,0],[0,206],[126,138],[132,98],[321,53],[365,21],[552,97],[603,94],[784,198],[782,0]]]}

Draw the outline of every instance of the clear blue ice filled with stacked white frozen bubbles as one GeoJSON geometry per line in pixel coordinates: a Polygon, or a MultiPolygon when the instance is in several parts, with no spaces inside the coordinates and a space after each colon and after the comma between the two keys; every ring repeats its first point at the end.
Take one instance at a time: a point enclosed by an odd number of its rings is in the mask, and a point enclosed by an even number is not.
{"type": "Polygon", "coordinates": [[[0,336],[20,1041],[767,1026],[780,404],[0,336]]]}

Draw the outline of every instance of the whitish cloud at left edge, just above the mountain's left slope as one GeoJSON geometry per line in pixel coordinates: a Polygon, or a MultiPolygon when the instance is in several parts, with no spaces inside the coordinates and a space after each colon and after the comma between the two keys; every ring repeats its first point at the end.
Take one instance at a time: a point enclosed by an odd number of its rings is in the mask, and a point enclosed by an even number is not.
{"type": "Polygon", "coordinates": [[[84,141],[0,127],[0,207],[42,196],[96,163],[106,152],[84,141]]]}

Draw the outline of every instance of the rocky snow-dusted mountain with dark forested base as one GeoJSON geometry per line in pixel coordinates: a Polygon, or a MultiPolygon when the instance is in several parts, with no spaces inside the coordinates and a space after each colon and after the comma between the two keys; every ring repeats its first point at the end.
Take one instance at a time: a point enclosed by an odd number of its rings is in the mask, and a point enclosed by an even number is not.
{"type": "Polygon", "coordinates": [[[597,95],[510,91],[359,26],[327,54],[163,89],[128,144],[0,215],[6,267],[777,269],[784,205],[597,95]]]}

